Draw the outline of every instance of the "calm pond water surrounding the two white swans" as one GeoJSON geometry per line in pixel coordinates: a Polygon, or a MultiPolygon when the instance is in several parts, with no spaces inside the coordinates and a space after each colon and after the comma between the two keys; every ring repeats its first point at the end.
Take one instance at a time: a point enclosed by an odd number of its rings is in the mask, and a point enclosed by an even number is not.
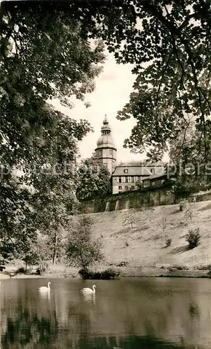
{"type": "Polygon", "coordinates": [[[1,349],[208,349],[211,280],[1,280],[1,349]],[[51,281],[51,290],[38,287],[51,281]]]}

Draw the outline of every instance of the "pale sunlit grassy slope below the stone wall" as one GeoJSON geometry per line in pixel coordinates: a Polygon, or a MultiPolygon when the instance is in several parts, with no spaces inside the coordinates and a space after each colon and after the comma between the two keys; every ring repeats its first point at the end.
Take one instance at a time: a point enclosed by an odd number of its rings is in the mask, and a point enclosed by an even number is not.
{"type": "MultiPolygon", "coordinates": [[[[134,228],[123,226],[127,210],[93,214],[93,235],[102,239],[108,263],[128,261],[130,267],[155,267],[156,264],[196,267],[211,263],[211,201],[192,204],[192,223],[179,211],[178,205],[159,206],[134,211],[134,228]],[[162,232],[159,221],[166,218],[162,232]],[[189,228],[200,228],[201,244],[187,249],[185,234],[189,228]],[[165,247],[166,238],[172,244],[165,247]],[[127,246],[128,245],[128,246],[127,246]]],[[[157,265],[158,266],[158,265],[157,265]]]]}

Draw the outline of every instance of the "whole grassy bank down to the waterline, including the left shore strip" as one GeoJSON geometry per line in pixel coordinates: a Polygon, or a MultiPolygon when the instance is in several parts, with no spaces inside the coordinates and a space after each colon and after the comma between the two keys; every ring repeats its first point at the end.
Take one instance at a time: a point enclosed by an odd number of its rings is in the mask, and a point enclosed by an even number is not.
{"type": "MultiPolygon", "coordinates": [[[[111,211],[92,214],[93,236],[104,246],[102,265],[96,265],[96,272],[113,268],[120,276],[170,276],[205,277],[211,269],[211,201],[195,202],[191,206],[192,219],[180,211],[179,205],[143,208],[139,210],[111,211]],[[133,228],[123,226],[127,211],[134,214],[133,228]],[[166,218],[166,228],[160,223],[166,218]],[[191,228],[199,228],[200,244],[188,249],[185,235],[191,228]],[[166,247],[166,239],[171,246],[166,247]]],[[[8,265],[0,279],[10,277],[22,262],[8,265]]],[[[65,265],[52,265],[42,276],[18,274],[20,277],[80,277],[78,269],[65,265]]]]}

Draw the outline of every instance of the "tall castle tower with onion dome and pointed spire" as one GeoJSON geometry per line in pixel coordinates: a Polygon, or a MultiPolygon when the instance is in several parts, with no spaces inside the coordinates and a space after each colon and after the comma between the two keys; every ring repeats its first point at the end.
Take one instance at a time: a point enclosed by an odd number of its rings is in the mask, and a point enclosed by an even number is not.
{"type": "Polygon", "coordinates": [[[111,127],[109,126],[106,115],[101,127],[101,136],[97,140],[95,156],[101,163],[103,163],[103,165],[107,166],[109,172],[112,174],[116,162],[116,147],[113,138],[111,137],[111,127]]]}

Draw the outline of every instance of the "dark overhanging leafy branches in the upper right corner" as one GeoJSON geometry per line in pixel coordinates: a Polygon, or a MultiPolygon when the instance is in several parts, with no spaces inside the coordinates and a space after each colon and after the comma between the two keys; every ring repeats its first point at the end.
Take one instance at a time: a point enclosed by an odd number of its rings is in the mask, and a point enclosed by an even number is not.
{"type": "Polygon", "coordinates": [[[103,38],[119,64],[134,65],[134,91],[118,113],[118,119],[137,121],[125,147],[162,158],[192,119],[198,138],[194,149],[208,163],[210,1],[123,0],[71,7],[82,19],[84,36],[103,38]]]}

